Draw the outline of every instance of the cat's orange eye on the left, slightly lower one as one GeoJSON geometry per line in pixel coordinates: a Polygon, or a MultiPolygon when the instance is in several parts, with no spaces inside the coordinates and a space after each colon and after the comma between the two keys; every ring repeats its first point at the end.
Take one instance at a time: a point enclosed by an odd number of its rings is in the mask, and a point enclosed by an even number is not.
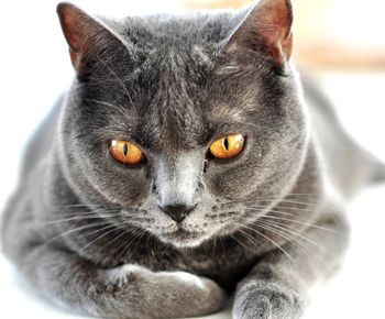
{"type": "Polygon", "coordinates": [[[113,160],[129,165],[139,164],[144,158],[141,148],[128,141],[113,140],[110,145],[110,154],[113,160]]]}

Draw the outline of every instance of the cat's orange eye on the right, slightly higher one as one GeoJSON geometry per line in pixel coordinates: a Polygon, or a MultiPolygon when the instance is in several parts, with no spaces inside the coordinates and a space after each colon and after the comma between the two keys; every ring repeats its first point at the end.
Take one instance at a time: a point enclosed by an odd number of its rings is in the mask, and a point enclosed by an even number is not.
{"type": "Polygon", "coordinates": [[[212,156],[220,160],[230,160],[238,156],[244,146],[242,134],[228,135],[215,141],[210,146],[212,156]]]}

